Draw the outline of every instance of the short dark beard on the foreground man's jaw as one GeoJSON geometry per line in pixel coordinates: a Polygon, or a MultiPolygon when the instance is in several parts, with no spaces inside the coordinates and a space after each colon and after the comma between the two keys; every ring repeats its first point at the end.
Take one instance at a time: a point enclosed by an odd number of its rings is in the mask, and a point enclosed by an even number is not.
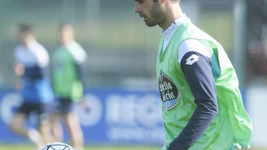
{"type": "Polygon", "coordinates": [[[165,13],[161,9],[158,1],[154,2],[152,7],[150,8],[150,16],[151,16],[151,21],[146,22],[146,25],[149,27],[154,27],[156,25],[159,25],[166,20],[165,13]]]}

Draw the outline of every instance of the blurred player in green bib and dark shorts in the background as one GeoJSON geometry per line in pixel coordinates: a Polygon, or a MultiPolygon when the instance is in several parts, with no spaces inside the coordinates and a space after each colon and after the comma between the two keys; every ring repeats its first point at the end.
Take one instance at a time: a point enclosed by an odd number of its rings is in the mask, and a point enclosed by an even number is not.
{"type": "MultiPolygon", "coordinates": [[[[69,130],[73,147],[84,149],[84,139],[78,115],[73,112],[73,103],[83,100],[83,83],[81,65],[87,55],[74,39],[73,27],[63,24],[59,28],[60,46],[53,55],[52,83],[54,94],[59,103],[57,116],[62,115],[69,130]]],[[[81,103],[84,104],[84,103],[81,103]]],[[[56,119],[58,120],[58,119],[56,119]]],[[[53,121],[58,126],[57,121],[53,121]]],[[[59,141],[62,141],[62,129],[54,130],[59,141]],[[60,138],[61,137],[61,138],[60,138]]]]}

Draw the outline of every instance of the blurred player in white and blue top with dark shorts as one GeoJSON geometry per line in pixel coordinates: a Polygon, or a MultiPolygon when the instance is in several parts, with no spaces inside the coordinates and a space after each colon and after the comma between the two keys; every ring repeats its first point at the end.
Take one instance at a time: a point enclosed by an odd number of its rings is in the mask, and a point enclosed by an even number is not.
{"type": "Polygon", "coordinates": [[[15,88],[21,93],[23,104],[18,108],[12,118],[12,131],[28,136],[38,147],[44,143],[42,134],[33,127],[25,127],[25,121],[30,113],[39,116],[39,127],[45,126],[45,104],[53,99],[52,88],[47,75],[49,55],[46,49],[40,45],[29,25],[19,27],[19,45],[15,48],[15,75],[17,80],[15,88]]]}

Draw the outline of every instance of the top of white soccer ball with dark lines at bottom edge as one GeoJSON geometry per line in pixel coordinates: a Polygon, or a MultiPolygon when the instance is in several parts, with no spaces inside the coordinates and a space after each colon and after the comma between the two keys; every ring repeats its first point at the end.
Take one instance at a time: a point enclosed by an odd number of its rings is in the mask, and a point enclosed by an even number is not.
{"type": "Polygon", "coordinates": [[[74,150],[74,148],[65,143],[53,142],[42,146],[39,150],[74,150]]]}

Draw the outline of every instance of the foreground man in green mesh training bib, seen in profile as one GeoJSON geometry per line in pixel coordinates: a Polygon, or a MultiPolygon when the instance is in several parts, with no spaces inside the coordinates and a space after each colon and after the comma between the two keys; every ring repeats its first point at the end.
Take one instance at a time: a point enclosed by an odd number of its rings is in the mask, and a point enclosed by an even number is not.
{"type": "Polygon", "coordinates": [[[179,0],[135,0],[134,12],[163,35],[157,58],[166,144],[161,150],[250,147],[252,124],[221,45],[194,26],[179,0]]]}

